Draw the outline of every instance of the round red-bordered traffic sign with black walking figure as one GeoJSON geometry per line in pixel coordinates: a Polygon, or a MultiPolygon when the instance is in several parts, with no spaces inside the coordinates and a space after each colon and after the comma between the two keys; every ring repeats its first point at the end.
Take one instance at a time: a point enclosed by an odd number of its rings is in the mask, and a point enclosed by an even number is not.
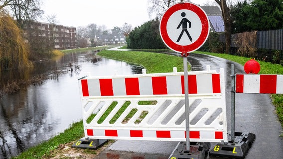
{"type": "Polygon", "coordinates": [[[199,49],[208,38],[209,20],[200,6],[177,3],[164,13],[160,34],[170,49],[190,53],[199,49]]]}

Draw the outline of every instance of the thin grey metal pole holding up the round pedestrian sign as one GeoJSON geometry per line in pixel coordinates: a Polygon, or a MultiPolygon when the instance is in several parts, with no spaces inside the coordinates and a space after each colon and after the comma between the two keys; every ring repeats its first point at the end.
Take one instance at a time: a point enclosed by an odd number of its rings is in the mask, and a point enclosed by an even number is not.
{"type": "Polygon", "coordinates": [[[188,80],[188,54],[183,53],[184,60],[184,89],[185,89],[185,114],[186,114],[186,150],[190,151],[190,111],[189,111],[189,80],[188,80]]]}

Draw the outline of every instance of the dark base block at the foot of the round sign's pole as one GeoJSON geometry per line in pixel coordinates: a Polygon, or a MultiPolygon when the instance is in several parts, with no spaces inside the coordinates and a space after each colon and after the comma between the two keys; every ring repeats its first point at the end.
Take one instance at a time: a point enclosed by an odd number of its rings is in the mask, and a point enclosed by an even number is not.
{"type": "Polygon", "coordinates": [[[179,142],[169,159],[205,159],[210,143],[190,142],[190,150],[186,150],[186,142],[179,142]]]}

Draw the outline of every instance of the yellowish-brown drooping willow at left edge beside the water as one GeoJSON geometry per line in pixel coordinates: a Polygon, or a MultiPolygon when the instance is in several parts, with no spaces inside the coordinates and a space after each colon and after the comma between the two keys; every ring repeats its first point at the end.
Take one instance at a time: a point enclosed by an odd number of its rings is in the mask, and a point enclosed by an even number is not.
{"type": "Polygon", "coordinates": [[[29,47],[22,31],[7,14],[0,12],[0,70],[32,66],[28,60],[29,47]]]}

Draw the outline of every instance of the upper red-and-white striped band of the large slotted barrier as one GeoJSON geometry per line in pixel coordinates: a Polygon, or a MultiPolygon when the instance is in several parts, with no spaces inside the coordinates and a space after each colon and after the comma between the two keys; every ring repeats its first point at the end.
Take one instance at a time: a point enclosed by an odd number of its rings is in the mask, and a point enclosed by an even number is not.
{"type": "MultiPolygon", "coordinates": [[[[188,80],[189,94],[221,93],[219,74],[194,74],[188,80]]],[[[184,94],[184,76],[180,73],[82,79],[81,85],[85,97],[184,94]]]]}

